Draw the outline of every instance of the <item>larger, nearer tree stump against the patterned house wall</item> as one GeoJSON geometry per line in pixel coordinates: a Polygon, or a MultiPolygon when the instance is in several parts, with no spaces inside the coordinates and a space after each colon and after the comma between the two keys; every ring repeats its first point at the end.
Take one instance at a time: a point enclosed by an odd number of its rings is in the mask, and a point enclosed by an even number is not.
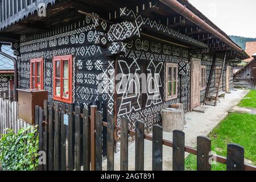
{"type": "Polygon", "coordinates": [[[184,130],[184,111],[182,109],[166,108],[161,110],[163,130],[171,133],[174,130],[184,130]]]}

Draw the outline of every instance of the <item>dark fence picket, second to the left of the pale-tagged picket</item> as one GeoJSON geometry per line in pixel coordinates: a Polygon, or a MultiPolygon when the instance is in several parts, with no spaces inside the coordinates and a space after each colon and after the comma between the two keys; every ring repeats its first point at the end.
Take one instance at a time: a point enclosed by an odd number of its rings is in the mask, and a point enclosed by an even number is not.
{"type": "Polygon", "coordinates": [[[49,122],[48,122],[48,132],[49,132],[49,137],[48,137],[48,169],[49,171],[53,171],[53,146],[54,146],[54,126],[55,123],[53,121],[53,115],[54,115],[54,110],[53,110],[53,102],[49,102],[49,122]]]}

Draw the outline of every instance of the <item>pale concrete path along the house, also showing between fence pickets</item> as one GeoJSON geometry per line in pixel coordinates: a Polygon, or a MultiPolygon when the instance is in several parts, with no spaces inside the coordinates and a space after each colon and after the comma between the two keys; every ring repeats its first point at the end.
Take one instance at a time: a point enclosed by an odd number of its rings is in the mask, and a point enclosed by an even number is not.
{"type": "MultiPolygon", "coordinates": [[[[226,98],[221,99],[216,107],[208,106],[205,113],[191,112],[185,114],[187,125],[185,125],[185,145],[196,147],[196,138],[198,136],[207,136],[228,115],[228,111],[236,106],[249,90],[233,90],[226,94],[226,98]]],[[[163,138],[172,141],[172,133],[163,133],[163,138]]],[[[187,156],[188,154],[186,154],[187,156]]],[[[129,171],[134,170],[135,165],[135,143],[129,146],[129,171]]],[[[114,169],[119,170],[120,152],[115,154],[114,169]]],[[[103,169],[106,170],[106,160],[104,160],[103,169]]],[[[144,169],[152,170],[152,142],[145,140],[144,143],[144,169]]],[[[172,148],[163,146],[163,170],[172,170],[172,148]]]]}

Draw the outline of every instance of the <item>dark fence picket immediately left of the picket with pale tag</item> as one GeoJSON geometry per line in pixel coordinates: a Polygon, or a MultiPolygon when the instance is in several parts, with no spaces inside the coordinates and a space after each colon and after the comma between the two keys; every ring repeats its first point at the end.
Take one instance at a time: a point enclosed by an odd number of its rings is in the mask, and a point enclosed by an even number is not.
{"type": "Polygon", "coordinates": [[[60,112],[59,103],[55,102],[54,125],[54,170],[60,171],[60,112]]]}

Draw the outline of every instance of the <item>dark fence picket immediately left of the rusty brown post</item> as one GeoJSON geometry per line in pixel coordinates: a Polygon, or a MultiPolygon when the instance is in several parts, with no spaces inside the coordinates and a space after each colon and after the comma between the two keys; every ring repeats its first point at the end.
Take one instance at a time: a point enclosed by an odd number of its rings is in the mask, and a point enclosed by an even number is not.
{"type": "Polygon", "coordinates": [[[90,171],[90,123],[89,123],[89,110],[83,109],[83,121],[82,121],[82,152],[83,152],[83,166],[84,171],[90,171]]]}

